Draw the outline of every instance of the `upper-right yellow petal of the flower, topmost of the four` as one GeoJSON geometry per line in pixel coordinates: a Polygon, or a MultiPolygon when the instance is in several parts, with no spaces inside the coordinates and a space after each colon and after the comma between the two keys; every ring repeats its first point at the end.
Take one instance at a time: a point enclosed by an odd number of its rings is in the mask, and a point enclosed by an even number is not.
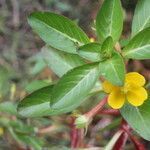
{"type": "Polygon", "coordinates": [[[137,72],[130,72],[126,74],[125,82],[136,86],[143,86],[145,84],[145,78],[137,72]]]}

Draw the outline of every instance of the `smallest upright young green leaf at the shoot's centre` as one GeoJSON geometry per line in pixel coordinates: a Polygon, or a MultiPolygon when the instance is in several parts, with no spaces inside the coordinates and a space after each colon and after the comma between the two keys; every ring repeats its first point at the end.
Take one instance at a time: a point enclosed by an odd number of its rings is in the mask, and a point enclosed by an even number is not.
{"type": "Polygon", "coordinates": [[[113,39],[112,37],[106,38],[106,40],[102,44],[101,52],[103,53],[104,57],[111,57],[113,52],[113,39]]]}

